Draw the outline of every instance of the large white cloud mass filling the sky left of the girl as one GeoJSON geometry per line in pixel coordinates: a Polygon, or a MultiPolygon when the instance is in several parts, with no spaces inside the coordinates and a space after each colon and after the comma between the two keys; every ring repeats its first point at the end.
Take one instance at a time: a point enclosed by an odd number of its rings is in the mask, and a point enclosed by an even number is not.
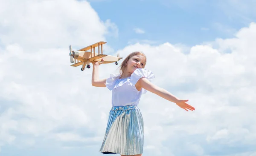
{"type": "Polygon", "coordinates": [[[70,67],[68,45],[82,48],[118,35],[115,24],[102,22],[86,1],[0,2],[0,146],[38,138],[97,141],[108,105],[95,104],[109,104],[111,94],[90,87],[91,69],[70,67]]]}

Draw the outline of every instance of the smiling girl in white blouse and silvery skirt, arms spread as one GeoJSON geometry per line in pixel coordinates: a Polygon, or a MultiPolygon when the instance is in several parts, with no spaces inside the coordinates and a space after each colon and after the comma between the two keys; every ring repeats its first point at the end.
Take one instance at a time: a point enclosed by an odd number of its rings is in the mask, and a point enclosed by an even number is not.
{"type": "Polygon", "coordinates": [[[112,91],[112,108],[109,113],[105,137],[99,152],[121,156],[141,156],[143,153],[143,117],[137,107],[142,94],[151,91],[158,96],[176,103],[180,108],[195,110],[186,102],[159,88],[150,81],[154,74],[146,70],[147,59],[142,52],[129,54],[121,64],[120,74],[108,79],[99,79],[101,62],[93,63],[92,85],[107,87],[112,91]]]}

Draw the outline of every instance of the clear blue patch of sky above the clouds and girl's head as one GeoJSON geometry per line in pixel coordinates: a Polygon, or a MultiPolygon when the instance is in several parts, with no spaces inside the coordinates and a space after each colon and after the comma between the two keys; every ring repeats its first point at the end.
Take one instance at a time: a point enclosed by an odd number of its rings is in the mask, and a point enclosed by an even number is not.
{"type": "Polygon", "coordinates": [[[223,3],[218,0],[193,3],[187,0],[90,1],[101,20],[111,19],[118,26],[119,37],[108,37],[111,46],[116,48],[122,48],[134,39],[192,46],[216,38],[234,37],[237,30],[253,20],[232,14],[236,8],[222,8],[221,5],[231,6],[223,3]],[[136,34],[134,28],[141,28],[145,33],[136,34]]]}

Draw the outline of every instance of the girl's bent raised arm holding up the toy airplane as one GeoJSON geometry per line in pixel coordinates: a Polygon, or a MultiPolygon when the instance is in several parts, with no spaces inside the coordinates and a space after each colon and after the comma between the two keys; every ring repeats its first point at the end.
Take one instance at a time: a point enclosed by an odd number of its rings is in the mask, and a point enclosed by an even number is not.
{"type": "Polygon", "coordinates": [[[93,62],[92,85],[94,87],[106,87],[106,79],[99,79],[99,65],[102,62],[93,62]]]}

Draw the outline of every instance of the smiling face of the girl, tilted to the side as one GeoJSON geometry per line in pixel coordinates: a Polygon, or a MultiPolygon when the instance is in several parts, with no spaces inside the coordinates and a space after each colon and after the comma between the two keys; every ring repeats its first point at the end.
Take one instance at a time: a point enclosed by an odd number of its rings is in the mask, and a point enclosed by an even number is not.
{"type": "Polygon", "coordinates": [[[141,55],[134,55],[127,62],[127,71],[133,73],[137,68],[143,68],[145,57],[141,55]]]}

